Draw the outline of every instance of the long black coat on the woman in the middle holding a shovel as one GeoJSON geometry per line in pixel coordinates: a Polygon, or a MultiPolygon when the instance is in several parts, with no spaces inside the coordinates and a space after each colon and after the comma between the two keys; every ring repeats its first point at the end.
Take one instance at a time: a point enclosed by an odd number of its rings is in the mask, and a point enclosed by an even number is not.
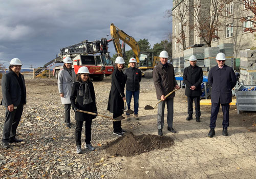
{"type": "Polygon", "coordinates": [[[108,110],[111,113],[123,114],[123,97],[124,95],[125,78],[124,74],[117,68],[112,73],[112,82],[109,95],[108,110]]]}

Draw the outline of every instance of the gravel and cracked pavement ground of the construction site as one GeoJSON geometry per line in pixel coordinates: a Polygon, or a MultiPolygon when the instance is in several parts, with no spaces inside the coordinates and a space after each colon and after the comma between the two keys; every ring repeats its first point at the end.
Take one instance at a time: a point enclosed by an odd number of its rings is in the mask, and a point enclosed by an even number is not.
{"type": "MultiPolygon", "coordinates": [[[[74,112],[71,111],[72,127],[68,129],[57,80],[25,80],[27,105],[17,129],[17,138],[24,142],[12,143],[9,149],[0,148],[0,178],[256,178],[256,112],[237,114],[236,106],[230,106],[229,135],[224,137],[220,109],[216,135],[208,138],[210,106],[201,106],[201,122],[196,122],[195,115],[193,120],[186,121],[187,100],[185,90],[181,89],[174,98],[177,134],[167,131],[165,112],[163,136],[172,138],[172,145],[131,157],[113,156],[105,147],[119,137],[113,135],[110,119],[96,117],[91,141],[96,150],[89,151],[82,146],[83,153],[77,155],[74,112]]],[[[106,111],[111,76],[93,84],[98,113],[112,117],[106,111]]],[[[158,136],[157,109],[144,110],[146,105],[157,103],[153,80],[143,78],[140,85],[140,119],[123,120],[122,128],[127,130],[125,135],[132,132],[135,136],[158,136]]],[[[4,121],[5,107],[2,106],[1,136],[4,121]]],[[[128,148],[133,145],[126,143],[128,148]]]]}

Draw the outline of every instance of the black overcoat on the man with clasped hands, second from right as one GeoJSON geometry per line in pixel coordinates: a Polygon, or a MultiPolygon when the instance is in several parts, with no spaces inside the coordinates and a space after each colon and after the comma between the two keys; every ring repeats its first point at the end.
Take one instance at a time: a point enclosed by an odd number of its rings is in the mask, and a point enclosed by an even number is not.
{"type": "Polygon", "coordinates": [[[200,96],[202,94],[201,83],[203,82],[203,70],[199,66],[195,66],[193,69],[191,65],[184,69],[183,82],[186,84],[185,95],[186,96],[200,96]],[[195,90],[189,89],[191,86],[195,86],[195,90]]]}

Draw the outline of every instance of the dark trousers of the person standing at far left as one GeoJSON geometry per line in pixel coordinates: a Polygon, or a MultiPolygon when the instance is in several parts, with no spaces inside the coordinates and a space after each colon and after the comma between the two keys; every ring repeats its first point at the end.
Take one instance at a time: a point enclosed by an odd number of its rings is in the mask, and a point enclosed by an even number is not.
{"type": "Polygon", "coordinates": [[[22,117],[23,113],[23,104],[17,106],[17,109],[14,109],[12,112],[8,111],[6,107],[5,111],[5,124],[3,129],[3,142],[8,142],[10,138],[16,136],[16,130],[22,117]]]}

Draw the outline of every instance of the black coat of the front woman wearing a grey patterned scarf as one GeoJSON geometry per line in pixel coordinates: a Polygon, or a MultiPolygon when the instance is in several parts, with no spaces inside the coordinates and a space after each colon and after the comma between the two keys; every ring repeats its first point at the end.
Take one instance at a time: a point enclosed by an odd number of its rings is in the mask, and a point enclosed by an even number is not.
{"type": "MultiPolygon", "coordinates": [[[[72,92],[71,92],[71,96],[70,96],[70,101],[71,101],[72,109],[74,109],[76,107],[79,110],[97,113],[97,107],[96,107],[96,103],[95,103],[95,92],[94,92],[93,83],[92,82],[88,82],[88,85],[89,85],[89,89],[90,89],[92,100],[93,100],[92,103],[90,103],[88,105],[83,105],[83,96],[79,95],[80,83],[79,82],[75,82],[73,87],[72,87],[72,92]]],[[[84,88],[85,88],[85,85],[83,86],[83,89],[84,88]]],[[[95,118],[95,115],[75,112],[75,120],[77,120],[77,121],[85,121],[85,120],[94,119],[94,118],[95,118]]]]}

